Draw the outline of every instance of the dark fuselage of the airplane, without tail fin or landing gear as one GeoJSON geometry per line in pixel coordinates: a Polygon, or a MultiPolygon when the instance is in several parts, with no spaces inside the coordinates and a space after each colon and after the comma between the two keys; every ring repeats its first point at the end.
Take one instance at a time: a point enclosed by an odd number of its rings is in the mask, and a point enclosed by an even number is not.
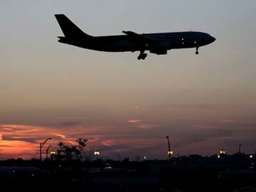
{"type": "Polygon", "coordinates": [[[139,34],[146,38],[154,39],[151,44],[138,45],[130,36],[96,36],[84,38],[60,38],[59,42],[67,43],[80,48],[91,50],[100,50],[107,52],[125,52],[137,50],[149,50],[152,53],[164,50],[179,49],[179,48],[198,48],[206,46],[215,41],[215,38],[208,33],[202,32],[175,32],[175,33],[148,33],[139,34]]]}

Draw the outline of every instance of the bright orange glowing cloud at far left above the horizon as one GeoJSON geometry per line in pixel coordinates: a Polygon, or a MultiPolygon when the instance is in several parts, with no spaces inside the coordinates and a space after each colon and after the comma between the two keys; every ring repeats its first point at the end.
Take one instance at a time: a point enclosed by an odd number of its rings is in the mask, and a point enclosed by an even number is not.
{"type": "MultiPolygon", "coordinates": [[[[0,159],[18,158],[31,159],[38,158],[39,143],[48,140],[46,146],[52,145],[55,150],[58,142],[65,144],[75,144],[75,140],[83,137],[78,129],[60,129],[59,127],[42,127],[23,124],[3,124],[0,125],[0,159]],[[67,135],[69,137],[67,137],[67,135]]],[[[86,134],[84,131],[83,134],[86,134]]],[[[46,147],[45,146],[45,147],[46,147]]],[[[45,151],[43,149],[43,154],[45,151]]]]}

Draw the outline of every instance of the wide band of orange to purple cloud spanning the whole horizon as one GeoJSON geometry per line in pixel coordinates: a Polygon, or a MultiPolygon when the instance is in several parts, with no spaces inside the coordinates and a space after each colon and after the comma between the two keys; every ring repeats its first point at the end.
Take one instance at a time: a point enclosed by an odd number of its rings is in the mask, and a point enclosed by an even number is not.
{"type": "Polygon", "coordinates": [[[50,149],[54,151],[58,142],[76,144],[75,140],[82,137],[88,139],[86,149],[97,146],[102,158],[117,158],[118,154],[122,154],[131,159],[142,152],[151,158],[166,158],[166,135],[170,137],[171,148],[179,154],[213,154],[222,148],[232,153],[239,143],[250,145],[247,150],[256,144],[256,126],[252,123],[202,122],[182,127],[183,124],[163,125],[161,122],[160,125],[142,122],[141,119],[129,120],[132,121],[98,123],[100,125],[97,126],[83,122],[67,127],[0,124],[0,159],[38,158],[38,144],[48,137],[52,139],[46,146],[52,145],[50,149]]]}

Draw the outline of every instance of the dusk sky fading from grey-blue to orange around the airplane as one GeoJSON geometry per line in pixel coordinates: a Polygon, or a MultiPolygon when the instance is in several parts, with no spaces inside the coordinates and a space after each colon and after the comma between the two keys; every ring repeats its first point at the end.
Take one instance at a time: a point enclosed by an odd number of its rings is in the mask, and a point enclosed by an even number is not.
{"type": "MultiPolygon", "coordinates": [[[[255,0],[0,1],[0,159],[52,137],[103,159],[254,153],[255,0]],[[137,60],[58,43],[54,14],[92,36],[202,31],[216,41],[137,60]]],[[[44,156],[45,152],[43,152],[44,156]]]]}

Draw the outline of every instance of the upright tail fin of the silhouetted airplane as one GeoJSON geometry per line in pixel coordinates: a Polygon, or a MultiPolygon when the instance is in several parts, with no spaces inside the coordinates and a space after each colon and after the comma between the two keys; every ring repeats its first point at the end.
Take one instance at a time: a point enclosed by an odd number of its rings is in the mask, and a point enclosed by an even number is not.
{"type": "Polygon", "coordinates": [[[60,25],[61,30],[65,37],[92,37],[84,33],[78,26],[76,26],[68,17],[64,14],[55,14],[55,17],[60,25]]]}

